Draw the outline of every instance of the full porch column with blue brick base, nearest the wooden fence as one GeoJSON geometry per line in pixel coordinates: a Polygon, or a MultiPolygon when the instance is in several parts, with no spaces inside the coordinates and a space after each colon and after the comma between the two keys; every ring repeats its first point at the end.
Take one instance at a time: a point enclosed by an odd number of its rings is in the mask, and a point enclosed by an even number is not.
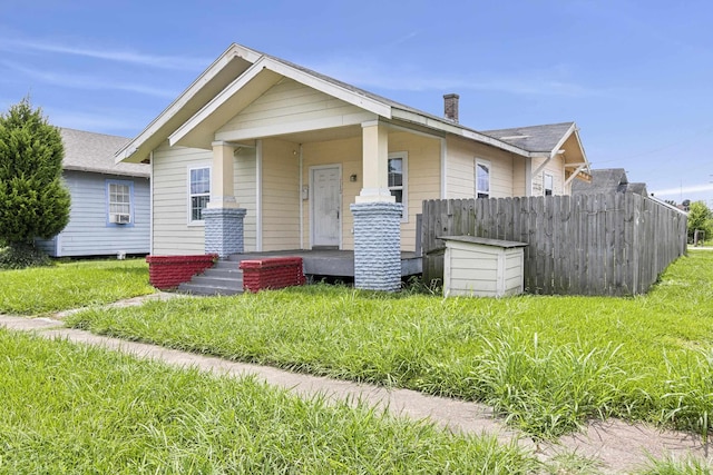
{"type": "Polygon", "coordinates": [[[389,135],[378,120],[362,123],[363,188],[354,216],[354,287],[401,288],[402,205],[389,191],[389,135]]]}

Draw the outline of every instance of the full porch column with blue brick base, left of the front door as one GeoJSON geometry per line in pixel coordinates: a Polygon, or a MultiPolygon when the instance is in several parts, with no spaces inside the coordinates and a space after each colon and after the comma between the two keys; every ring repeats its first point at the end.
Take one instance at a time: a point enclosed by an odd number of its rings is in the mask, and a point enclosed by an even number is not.
{"type": "Polygon", "coordinates": [[[235,200],[234,150],[231,144],[213,142],[211,201],[203,210],[205,253],[219,257],[244,251],[243,219],[247,210],[235,200]]]}

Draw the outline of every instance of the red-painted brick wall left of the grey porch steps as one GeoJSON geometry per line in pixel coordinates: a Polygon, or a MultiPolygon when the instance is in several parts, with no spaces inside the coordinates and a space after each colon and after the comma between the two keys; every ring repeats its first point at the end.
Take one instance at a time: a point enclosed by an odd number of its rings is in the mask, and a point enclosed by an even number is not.
{"type": "Polygon", "coordinates": [[[196,274],[213,267],[218,259],[217,254],[197,256],[146,256],[148,263],[148,281],[160,290],[178,287],[187,283],[196,274]]]}

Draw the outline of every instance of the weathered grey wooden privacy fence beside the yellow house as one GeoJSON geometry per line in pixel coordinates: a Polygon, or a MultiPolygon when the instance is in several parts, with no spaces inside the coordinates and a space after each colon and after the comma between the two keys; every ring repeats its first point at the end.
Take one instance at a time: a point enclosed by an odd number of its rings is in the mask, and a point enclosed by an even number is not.
{"type": "Polygon", "coordinates": [[[423,201],[423,278],[443,278],[439,236],[527,243],[525,290],[635,295],[686,249],[686,215],[633,194],[423,201]]]}

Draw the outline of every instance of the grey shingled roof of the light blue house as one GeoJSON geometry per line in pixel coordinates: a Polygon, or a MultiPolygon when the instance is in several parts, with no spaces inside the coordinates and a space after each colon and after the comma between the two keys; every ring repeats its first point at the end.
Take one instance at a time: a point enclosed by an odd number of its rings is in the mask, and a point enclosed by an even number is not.
{"type": "Polygon", "coordinates": [[[65,145],[65,170],[91,171],[96,174],[148,177],[149,168],[141,164],[116,164],[114,154],[130,139],[82,130],[64,129],[60,135],[65,145]]]}

